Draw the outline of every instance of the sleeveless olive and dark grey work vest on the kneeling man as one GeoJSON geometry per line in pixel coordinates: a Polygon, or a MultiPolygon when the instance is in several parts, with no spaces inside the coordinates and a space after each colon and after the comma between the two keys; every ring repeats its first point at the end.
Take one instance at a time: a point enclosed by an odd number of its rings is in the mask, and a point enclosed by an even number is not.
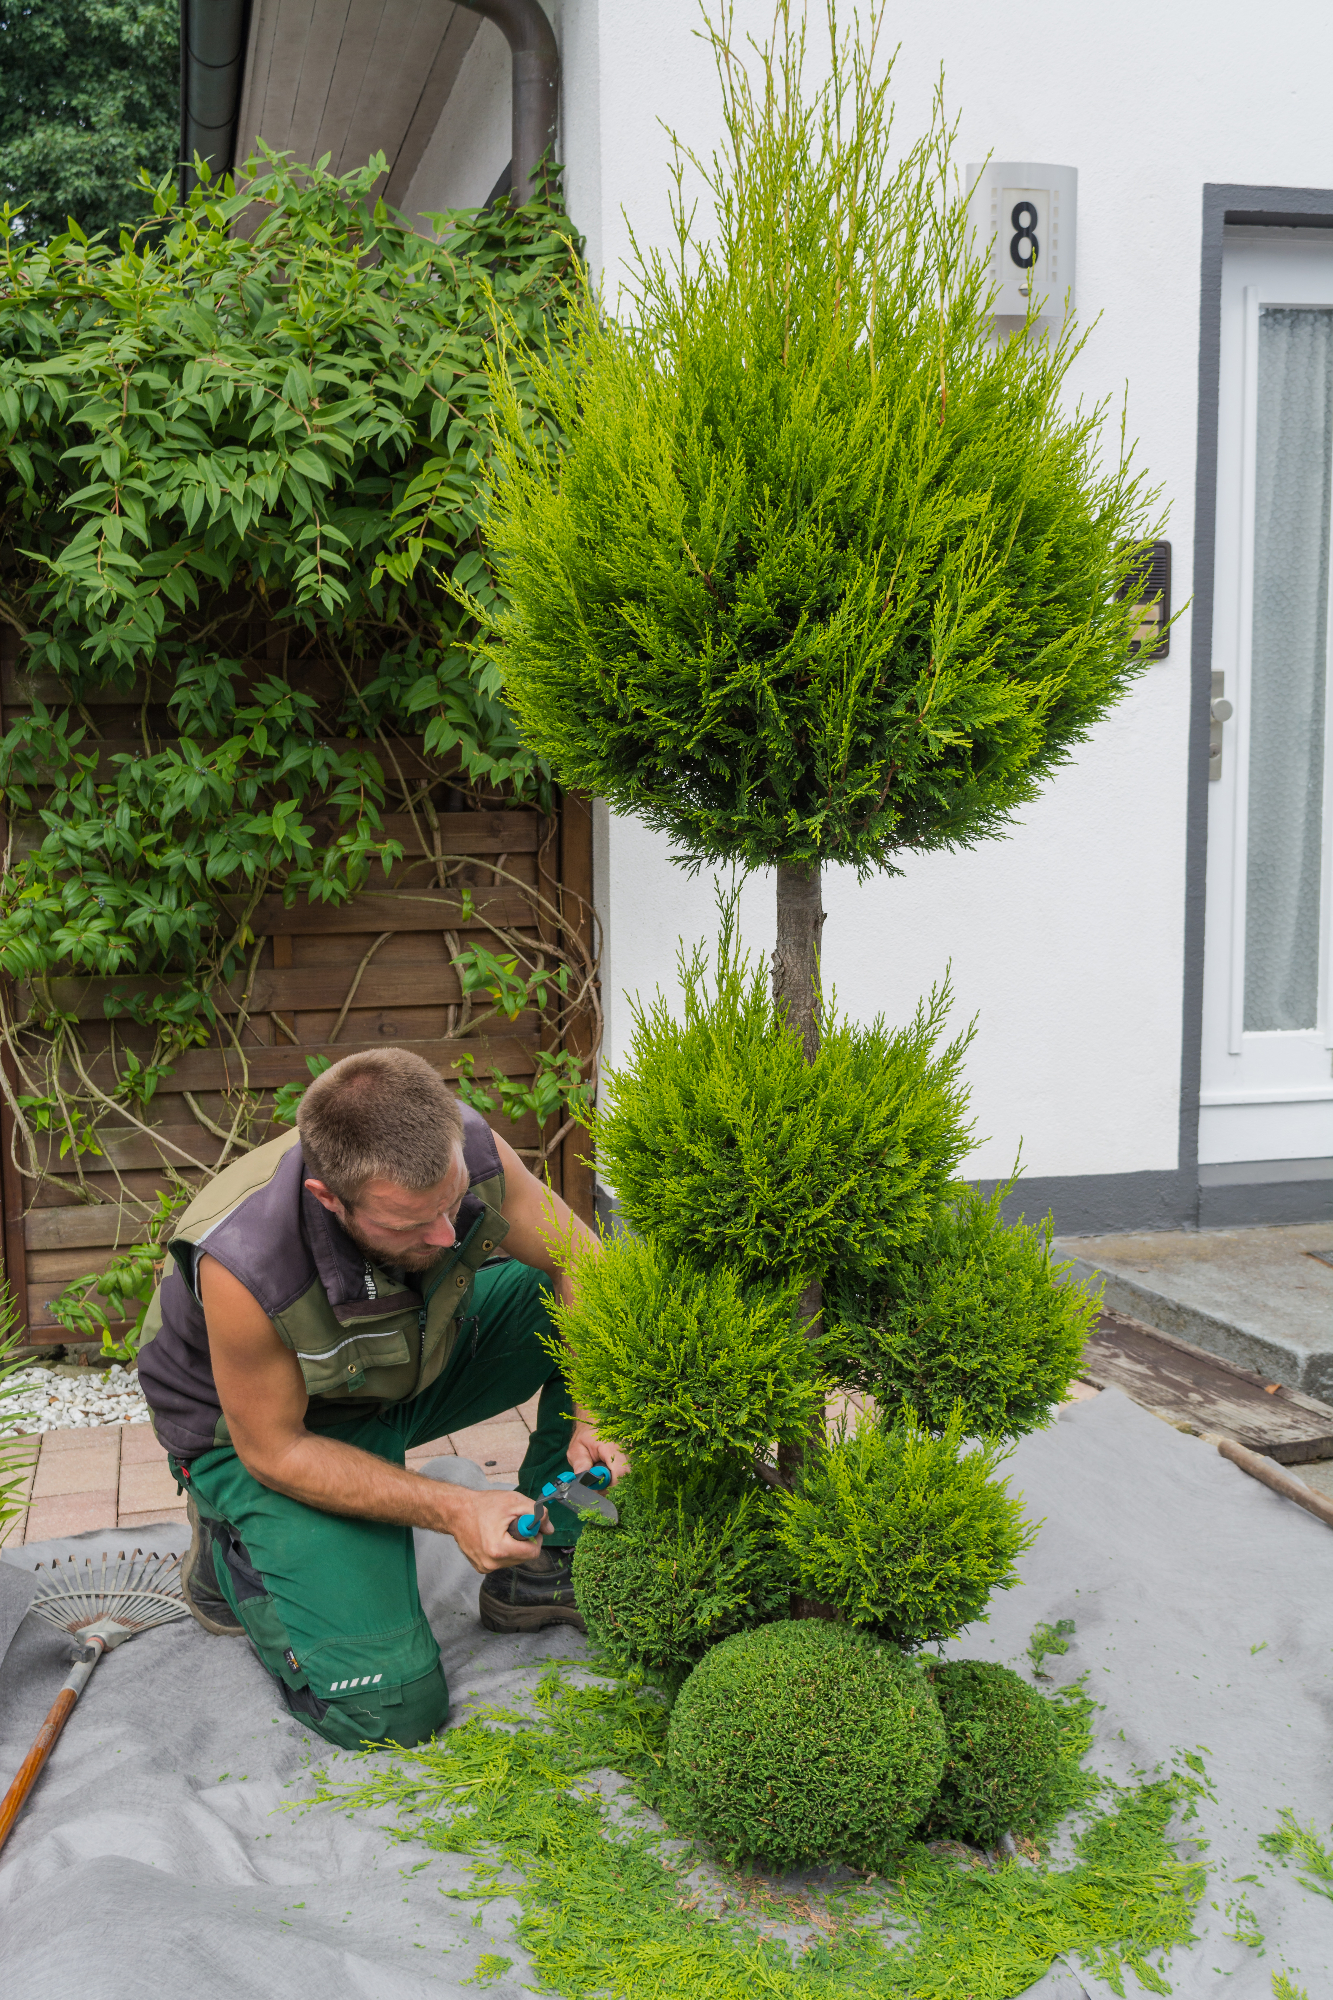
{"type": "Polygon", "coordinates": [[[200,1252],[244,1284],[300,1362],[310,1430],[372,1416],[436,1380],[456,1346],[472,1278],[508,1234],[494,1136],[470,1106],[458,1108],[468,1168],[458,1242],[422,1274],[420,1292],[366,1260],[306,1190],[298,1132],[256,1146],[190,1202],[138,1350],[140,1388],[168,1452],[188,1460],[230,1444],[198,1298],[200,1252]]]}

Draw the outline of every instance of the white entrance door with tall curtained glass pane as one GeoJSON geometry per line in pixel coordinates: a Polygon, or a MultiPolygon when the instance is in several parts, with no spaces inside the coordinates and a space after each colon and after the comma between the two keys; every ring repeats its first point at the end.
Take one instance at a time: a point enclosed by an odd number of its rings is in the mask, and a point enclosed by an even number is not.
{"type": "Polygon", "coordinates": [[[1331,550],[1333,240],[1229,230],[1201,1162],[1333,1154],[1331,550]]]}

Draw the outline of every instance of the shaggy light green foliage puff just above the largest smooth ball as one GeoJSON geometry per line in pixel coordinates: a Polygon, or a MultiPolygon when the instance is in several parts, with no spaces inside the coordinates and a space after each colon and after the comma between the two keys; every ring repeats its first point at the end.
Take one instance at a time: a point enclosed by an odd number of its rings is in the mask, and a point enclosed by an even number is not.
{"type": "Polygon", "coordinates": [[[783,1496],[779,1538],[803,1596],[905,1648],[985,1618],[1037,1534],[995,1478],[1003,1456],[991,1442],[963,1450],[961,1410],[939,1438],[911,1410],[893,1428],[861,1416],[783,1496]]]}

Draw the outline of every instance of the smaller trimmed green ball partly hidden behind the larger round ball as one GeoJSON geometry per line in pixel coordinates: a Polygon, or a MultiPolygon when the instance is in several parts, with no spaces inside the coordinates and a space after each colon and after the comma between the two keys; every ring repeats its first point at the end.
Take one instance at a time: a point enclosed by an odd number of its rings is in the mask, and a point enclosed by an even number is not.
{"type": "Polygon", "coordinates": [[[1031,1820],[1059,1758],[1051,1704],[1007,1666],[947,1660],[927,1668],[949,1736],[945,1774],[923,1834],[993,1848],[1031,1820]]]}

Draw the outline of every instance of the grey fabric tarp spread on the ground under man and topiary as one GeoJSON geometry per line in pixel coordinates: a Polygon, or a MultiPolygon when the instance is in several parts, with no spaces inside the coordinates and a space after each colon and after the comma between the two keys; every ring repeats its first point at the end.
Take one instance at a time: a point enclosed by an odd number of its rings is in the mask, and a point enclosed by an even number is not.
{"type": "MultiPolygon", "coordinates": [[[[482,1484],[458,1460],[432,1470],[482,1484]]],[[[1169,1966],[1177,1996],[1269,2000],[1275,1970],[1309,2000],[1333,1994],[1333,1902],[1257,1844],[1281,1808],[1329,1838],[1333,1530],[1113,1390],[1027,1438],[1011,1472],[1045,1526],[1023,1586],[951,1650],[1023,1664],[1039,1620],[1073,1618],[1071,1652],[1047,1664],[1057,1680],[1087,1672],[1103,1704],[1099,1766],[1131,1778],[1179,1752],[1203,1758],[1209,1888],[1201,1942],[1169,1966]]],[[[182,1546],[178,1530],[138,1538],[182,1546]]],[[[80,1538],[98,1554],[122,1542],[80,1538]]],[[[0,1636],[32,1588],[16,1568],[40,1556],[6,1552],[0,1636]]],[[[454,1716],[518,1698],[536,1662],[578,1650],[566,1630],[482,1632],[452,1542],[418,1536],[418,1556],[454,1716]]],[[[62,1674],[64,1642],[26,1618],[0,1668],[0,1782],[62,1674]]],[[[0,1858],[6,1994],[472,2000],[482,1952],[514,1962],[486,1988],[496,2000],[532,1990],[510,1936],[516,1904],[482,1906],[474,1928],[470,1904],[440,1896],[464,1876],[456,1856],[400,1846],[372,1818],[278,1810],[314,1764],[338,1758],[274,1704],[240,1640],[178,1624],[110,1654],[0,1858]]],[[[1087,1974],[1083,1986],[1107,1992],[1087,1974]]],[[[1079,1980],[1055,1968],[1033,1994],[1067,2000],[1079,1980]]]]}

